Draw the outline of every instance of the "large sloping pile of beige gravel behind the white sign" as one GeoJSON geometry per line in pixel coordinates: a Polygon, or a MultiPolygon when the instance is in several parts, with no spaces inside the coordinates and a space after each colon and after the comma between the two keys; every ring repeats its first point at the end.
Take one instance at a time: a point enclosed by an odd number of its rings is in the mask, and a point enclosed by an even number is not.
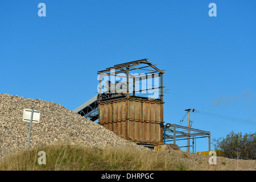
{"type": "Polygon", "coordinates": [[[84,144],[89,147],[140,147],[119,138],[64,106],[40,99],[0,94],[0,160],[10,152],[26,150],[30,122],[23,122],[23,109],[40,110],[40,122],[32,123],[30,148],[57,143],[84,144]]]}

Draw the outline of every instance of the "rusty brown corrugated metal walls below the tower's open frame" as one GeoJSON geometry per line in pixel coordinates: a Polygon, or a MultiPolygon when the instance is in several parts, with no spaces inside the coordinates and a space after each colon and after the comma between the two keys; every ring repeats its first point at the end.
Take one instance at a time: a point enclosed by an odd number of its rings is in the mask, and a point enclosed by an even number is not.
{"type": "Polygon", "coordinates": [[[100,125],[119,137],[141,143],[163,142],[163,102],[123,98],[99,103],[100,125]]]}

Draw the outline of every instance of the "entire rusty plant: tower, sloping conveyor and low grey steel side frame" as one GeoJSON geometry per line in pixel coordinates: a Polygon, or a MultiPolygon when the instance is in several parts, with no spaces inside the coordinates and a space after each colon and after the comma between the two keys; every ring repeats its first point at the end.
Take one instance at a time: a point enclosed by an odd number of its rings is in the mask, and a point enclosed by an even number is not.
{"type": "Polygon", "coordinates": [[[194,140],[205,137],[208,137],[210,150],[209,131],[170,123],[164,125],[163,73],[164,70],[156,68],[147,59],[98,71],[98,94],[73,111],[92,121],[98,119],[99,125],[119,137],[156,151],[180,150],[176,140],[190,141],[190,138],[192,146],[183,147],[193,147],[194,151],[194,140]]]}

